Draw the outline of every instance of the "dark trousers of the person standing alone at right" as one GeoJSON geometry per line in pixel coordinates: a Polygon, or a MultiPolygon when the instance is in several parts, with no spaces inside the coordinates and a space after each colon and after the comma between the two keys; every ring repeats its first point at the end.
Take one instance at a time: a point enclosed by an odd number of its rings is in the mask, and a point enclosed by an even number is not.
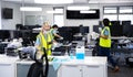
{"type": "Polygon", "coordinates": [[[110,48],[109,47],[99,47],[98,56],[106,56],[108,61],[112,64],[113,67],[116,66],[116,62],[112,58],[110,55],[110,48]]]}

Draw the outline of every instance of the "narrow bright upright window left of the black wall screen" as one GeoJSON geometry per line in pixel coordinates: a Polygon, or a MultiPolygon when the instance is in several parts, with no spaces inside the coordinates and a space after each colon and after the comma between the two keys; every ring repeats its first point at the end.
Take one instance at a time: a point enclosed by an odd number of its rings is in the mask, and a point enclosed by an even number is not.
{"type": "Polygon", "coordinates": [[[53,13],[53,23],[57,24],[58,26],[63,26],[64,25],[64,9],[61,8],[53,8],[55,13],[53,13]]]}

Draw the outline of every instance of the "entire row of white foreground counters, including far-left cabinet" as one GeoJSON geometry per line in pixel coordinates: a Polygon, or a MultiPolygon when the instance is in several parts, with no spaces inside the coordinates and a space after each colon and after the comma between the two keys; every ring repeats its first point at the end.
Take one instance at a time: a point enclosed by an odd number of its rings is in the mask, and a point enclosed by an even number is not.
{"type": "MultiPolygon", "coordinates": [[[[50,62],[48,77],[108,77],[106,57],[88,56],[84,61],[70,59],[69,56],[54,57],[66,58],[68,62],[61,62],[58,70],[54,70],[50,62]]],[[[32,63],[34,62],[0,55],[0,77],[27,77],[32,63]]]]}

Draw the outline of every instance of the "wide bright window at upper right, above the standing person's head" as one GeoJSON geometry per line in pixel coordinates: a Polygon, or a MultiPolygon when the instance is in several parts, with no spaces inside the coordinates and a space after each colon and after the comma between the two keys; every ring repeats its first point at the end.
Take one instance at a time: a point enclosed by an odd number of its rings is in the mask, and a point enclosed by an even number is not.
{"type": "Polygon", "coordinates": [[[103,18],[111,21],[131,21],[133,24],[133,7],[104,7],[103,18]]]}

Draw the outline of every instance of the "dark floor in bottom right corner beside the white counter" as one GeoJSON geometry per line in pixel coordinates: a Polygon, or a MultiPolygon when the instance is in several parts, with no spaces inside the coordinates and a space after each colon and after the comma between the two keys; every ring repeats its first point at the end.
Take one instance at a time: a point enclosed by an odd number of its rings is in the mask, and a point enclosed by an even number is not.
{"type": "Polygon", "coordinates": [[[108,68],[108,77],[133,77],[133,67],[120,66],[117,73],[113,73],[111,68],[108,68]]]}

